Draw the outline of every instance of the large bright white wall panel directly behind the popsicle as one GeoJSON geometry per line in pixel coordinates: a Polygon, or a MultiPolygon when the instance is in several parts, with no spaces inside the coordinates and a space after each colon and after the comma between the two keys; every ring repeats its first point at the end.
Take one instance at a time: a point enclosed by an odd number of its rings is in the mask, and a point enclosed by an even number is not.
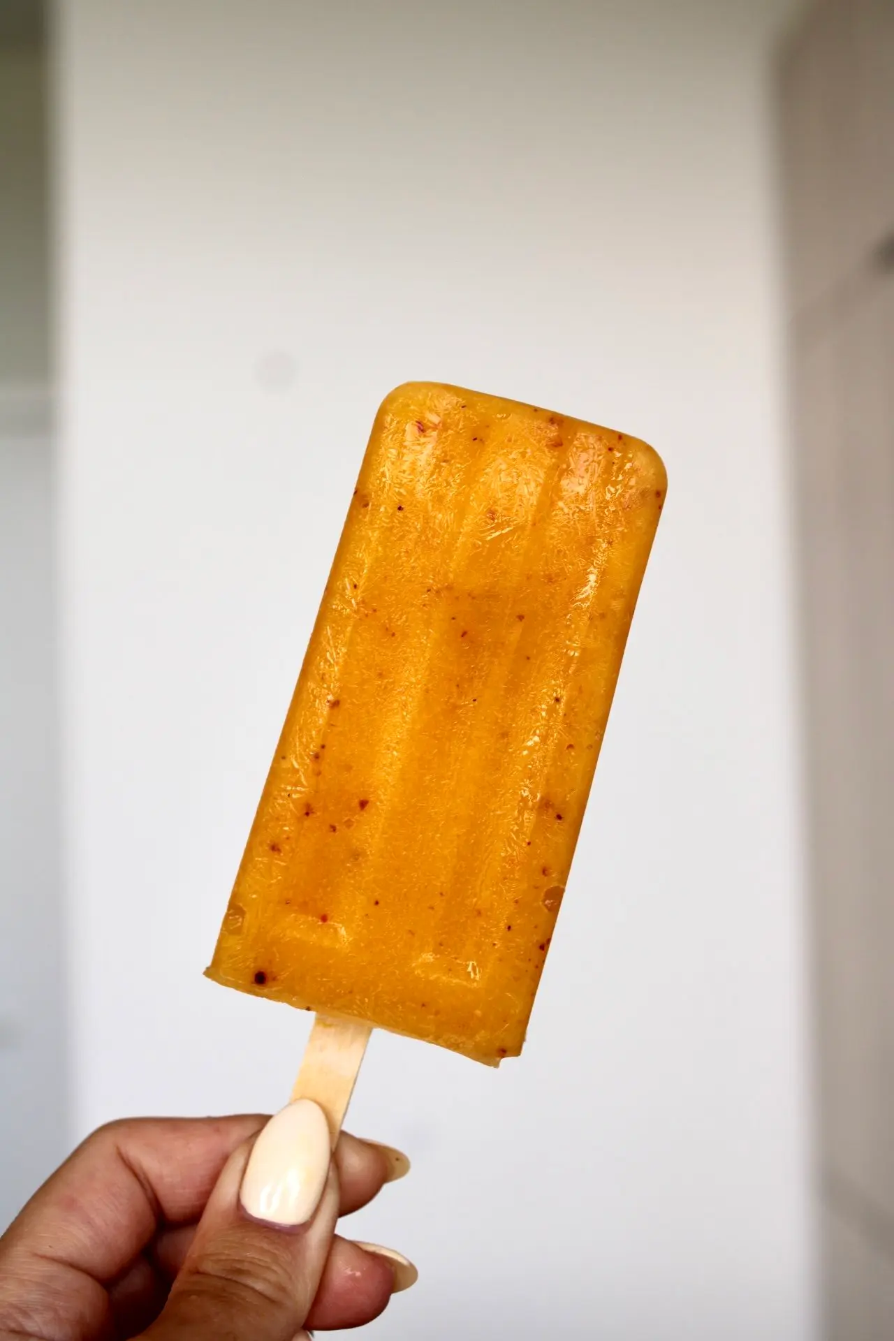
{"type": "Polygon", "coordinates": [[[755,0],[71,0],[60,55],[76,1126],[277,1106],[201,978],[378,400],[653,441],[670,500],[528,1047],[379,1037],[370,1334],[810,1334],[768,44],[755,0]]]}

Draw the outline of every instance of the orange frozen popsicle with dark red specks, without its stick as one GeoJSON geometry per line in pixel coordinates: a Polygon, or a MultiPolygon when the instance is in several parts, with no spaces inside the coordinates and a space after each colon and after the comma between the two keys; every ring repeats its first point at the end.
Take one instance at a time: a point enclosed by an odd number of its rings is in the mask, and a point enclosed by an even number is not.
{"type": "Polygon", "coordinates": [[[665,488],[623,433],[387,396],[208,976],[521,1051],[665,488]]]}

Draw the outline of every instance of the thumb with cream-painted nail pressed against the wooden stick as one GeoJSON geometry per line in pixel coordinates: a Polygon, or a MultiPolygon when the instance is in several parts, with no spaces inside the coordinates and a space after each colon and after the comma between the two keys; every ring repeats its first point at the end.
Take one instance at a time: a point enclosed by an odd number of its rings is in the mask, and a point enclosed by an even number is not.
{"type": "Polygon", "coordinates": [[[229,1157],[145,1341],[294,1341],[338,1218],[323,1110],[290,1104],[229,1157]]]}

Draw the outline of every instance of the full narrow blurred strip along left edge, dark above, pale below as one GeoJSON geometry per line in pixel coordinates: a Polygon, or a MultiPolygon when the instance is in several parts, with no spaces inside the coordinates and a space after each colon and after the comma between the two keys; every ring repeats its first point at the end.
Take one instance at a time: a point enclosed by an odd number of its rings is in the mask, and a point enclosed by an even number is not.
{"type": "Polygon", "coordinates": [[[0,0],[0,1231],[67,1151],[46,60],[0,0]]]}

